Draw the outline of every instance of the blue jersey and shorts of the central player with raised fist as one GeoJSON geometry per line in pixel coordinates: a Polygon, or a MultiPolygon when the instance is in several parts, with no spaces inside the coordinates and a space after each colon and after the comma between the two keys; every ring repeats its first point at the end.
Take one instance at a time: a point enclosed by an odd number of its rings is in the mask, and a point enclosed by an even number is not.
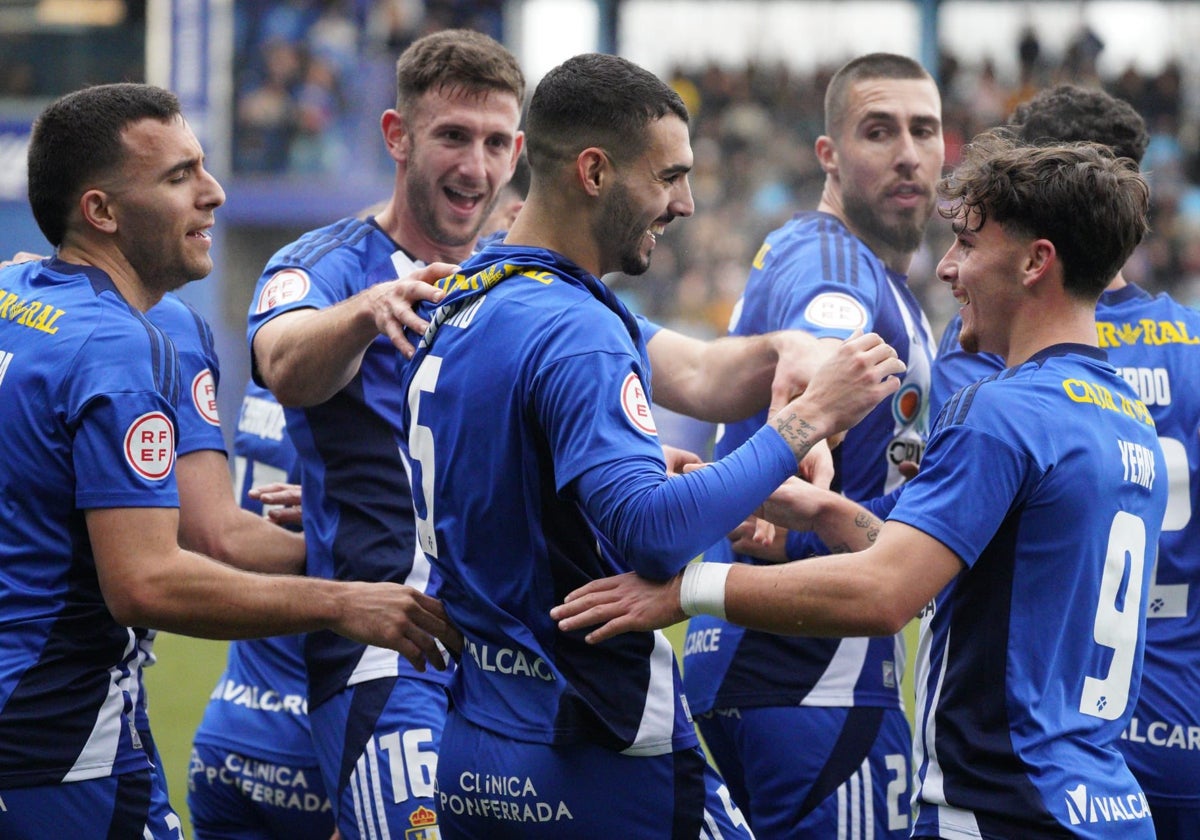
{"type": "Polygon", "coordinates": [[[666,638],[593,646],[550,610],[599,577],[677,574],[793,473],[794,456],[764,428],[667,480],[641,329],[599,280],[551,251],[493,246],[443,283],[402,372],[420,545],[466,638],[438,763],[443,835],[673,824],[690,829],[662,836],[697,836],[716,820],[745,836],[719,779],[692,761],[666,638]],[[640,769],[622,772],[630,757],[640,769]],[[594,784],[576,784],[584,770],[594,784]],[[486,784],[497,776],[518,784],[486,784]]]}

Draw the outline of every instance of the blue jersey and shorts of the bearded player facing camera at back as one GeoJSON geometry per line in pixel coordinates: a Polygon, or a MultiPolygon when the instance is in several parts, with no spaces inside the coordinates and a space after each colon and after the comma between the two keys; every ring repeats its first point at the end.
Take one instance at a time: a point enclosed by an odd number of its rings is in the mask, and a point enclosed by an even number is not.
{"type": "MultiPolygon", "coordinates": [[[[907,365],[900,390],[851,428],[834,450],[833,488],[862,502],[900,486],[900,463],[919,462],[924,450],[934,356],[929,322],[906,278],[890,271],[836,217],[797,214],[767,236],[755,257],[730,335],[785,329],[818,338],[845,338],[860,329],[877,332],[895,348],[907,365]]],[[[739,446],[766,420],[763,409],[726,425],[714,455],[739,446]]],[[[793,559],[827,552],[812,534],[788,536],[793,559]]],[[[736,554],[725,539],[704,559],[757,562],[736,554]]],[[[688,700],[756,832],[792,838],[847,832],[851,838],[907,836],[910,734],[900,698],[904,667],[900,636],[776,636],[712,616],[688,623],[688,700]],[[844,709],[845,716],[832,721],[829,709],[844,709]],[[787,718],[786,725],[780,715],[787,718]],[[781,732],[796,740],[796,749],[784,750],[787,758],[770,748],[781,732]],[[853,794],[854,787],[864,796],[853,794]],[[779,791],[791,793],[780,796],[779,791]],[[856,808],[851,800],[864,804],[856,808]],[[872,800],[874,811],[866,806],[872,800]]]]}

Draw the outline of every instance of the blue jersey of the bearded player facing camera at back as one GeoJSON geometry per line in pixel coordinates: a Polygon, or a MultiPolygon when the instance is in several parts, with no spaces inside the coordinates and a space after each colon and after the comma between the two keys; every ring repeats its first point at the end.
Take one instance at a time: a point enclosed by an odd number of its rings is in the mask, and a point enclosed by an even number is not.
{"type": "MultiPolygon", "coordinates": [[[[919,461],[928,428],[934,341],[906,278],[887,269],[838,218],[797,214],[767,236],[734,310],[731,335],[802,329],[844,338],[878,332],[908,366],[900,390],[877,406],[834,452],[834,490],[856,500],[899,486],[902,461],[919,461]]],[[[733,451],[767,420],[725,426],[714,454],[733,451]]],[[[812,552],[810,552],[812,553],[812,552]]],[[[706,560],[754,563],[721,540],[706,560]]],[[[688,623],[684,686],[696,713],[740,706],[898,708],[901,637],[803,638],[745,630],[712,616],[688,623]]]]}

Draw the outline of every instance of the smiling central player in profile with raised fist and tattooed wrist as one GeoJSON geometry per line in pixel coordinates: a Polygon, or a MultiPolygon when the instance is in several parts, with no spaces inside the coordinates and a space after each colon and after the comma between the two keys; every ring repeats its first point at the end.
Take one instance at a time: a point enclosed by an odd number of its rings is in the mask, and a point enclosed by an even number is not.
{"type": "Polygon", "coordinates": [[[524,208],[444,281],[402,371],[420,547],[466,640],[442,835],[750,836],[697,746],[665,637],[590,647],[548,611],[618,570],[674,575],[796,472],[814,442],[798,407],[844,427],[902,364],[878,336],[853,338],[745,446],[668,479],[644,336],[599,277],[644,272],[691,215],[686,109],[636,65],[581,55],[541,80],[527,126],[524,208]]]}

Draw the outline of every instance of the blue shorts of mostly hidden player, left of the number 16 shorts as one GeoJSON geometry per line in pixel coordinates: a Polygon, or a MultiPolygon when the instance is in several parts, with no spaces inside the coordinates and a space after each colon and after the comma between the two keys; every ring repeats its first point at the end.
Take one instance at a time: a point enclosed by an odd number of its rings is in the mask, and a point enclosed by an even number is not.
{"type": "Polygon", "coordinates": [[[329,840],[334,808],[316,764],[259,761],[197,744],[187,769],[197,840],[329,840]]]}

